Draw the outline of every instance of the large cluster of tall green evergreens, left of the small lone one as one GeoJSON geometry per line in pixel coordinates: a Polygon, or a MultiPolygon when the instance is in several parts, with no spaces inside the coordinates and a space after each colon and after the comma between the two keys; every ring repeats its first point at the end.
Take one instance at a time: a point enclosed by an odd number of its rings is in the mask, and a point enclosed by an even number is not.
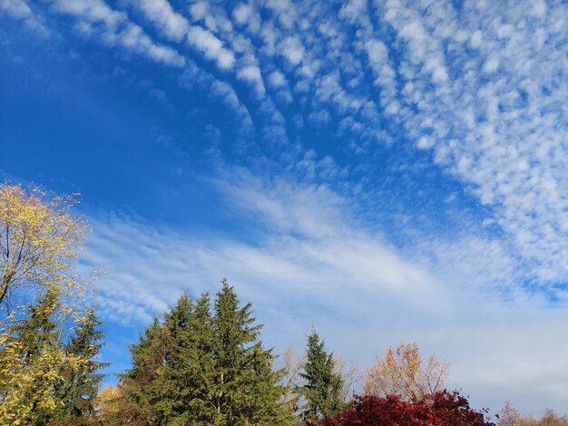
{"type": "Polygon", "coordinates": [[[132,424],[289,424],[275,356],[260,342],[251,305],[239,307],[227,281],[211,299],[181,295],[164,321],[132,345],[122,388],[132,424]]]}

